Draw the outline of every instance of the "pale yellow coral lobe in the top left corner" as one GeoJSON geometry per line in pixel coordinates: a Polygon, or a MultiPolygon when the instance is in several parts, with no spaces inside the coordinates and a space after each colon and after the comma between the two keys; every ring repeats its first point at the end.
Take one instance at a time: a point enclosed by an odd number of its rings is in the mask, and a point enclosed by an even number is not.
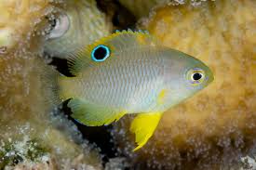
{"type": "Polygon", "coordinates": [[[49,0],[0,0],[0,47],[12,48],[31,32],[38,16],[51,11],[49,0]]]}

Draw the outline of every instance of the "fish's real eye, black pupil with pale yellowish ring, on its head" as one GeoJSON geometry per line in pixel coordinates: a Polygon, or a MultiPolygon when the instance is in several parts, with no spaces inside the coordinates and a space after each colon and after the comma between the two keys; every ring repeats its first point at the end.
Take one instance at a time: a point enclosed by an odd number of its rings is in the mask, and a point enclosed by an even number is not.
{"type": "Polygon", "coordinates": [[[200,85],[205,79],[205,72],[200,68],[194,68],[187,72],[187,79],[192,85],[200,85]]]}

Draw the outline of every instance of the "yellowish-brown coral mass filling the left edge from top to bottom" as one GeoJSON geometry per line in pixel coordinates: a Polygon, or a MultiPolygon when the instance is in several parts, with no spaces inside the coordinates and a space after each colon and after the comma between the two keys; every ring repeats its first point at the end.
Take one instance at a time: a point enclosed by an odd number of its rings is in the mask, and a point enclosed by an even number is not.
{"type": "Polygon", "coordinates": [[[42,18],[54,7],[45,0],[3,0],[0,7],[8,13],[0,33],[13,29],[11,43],[1,41],[7,51],[0,56],[0,169],[101,169],[99,150],[50,109],[43,77],[52,70],[40,56],[42,18]]]}

